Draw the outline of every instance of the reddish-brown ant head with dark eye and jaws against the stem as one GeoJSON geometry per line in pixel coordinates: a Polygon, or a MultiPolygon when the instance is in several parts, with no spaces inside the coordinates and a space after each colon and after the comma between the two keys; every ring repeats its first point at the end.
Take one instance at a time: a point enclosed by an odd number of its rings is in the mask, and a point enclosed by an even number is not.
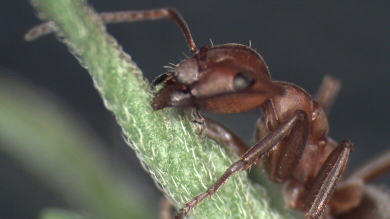
{"type": "Polygon", "coordinates": [[[195,107],[212,113],[253,109],[282,88],[270,80],[267,66],[253,49],[240,44],[204,46],[171,72],[155,80],[164,83],[153,99],[154,109],[195,107]]]}

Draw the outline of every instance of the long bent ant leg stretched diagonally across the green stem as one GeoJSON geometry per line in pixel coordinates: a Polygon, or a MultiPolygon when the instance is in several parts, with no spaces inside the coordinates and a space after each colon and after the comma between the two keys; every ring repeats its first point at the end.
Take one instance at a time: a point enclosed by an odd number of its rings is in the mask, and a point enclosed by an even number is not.
{"type": "MultiPolygon", "coordinates": [[[[308,135],[307,114],[301,110],[296,111],[288,119],[282,122],[277,128],[269,132],[264,138],[262,138],[260,141],[254,144],[249,150],[247,150],[239,160],[233,162],[229,167],[227,167],[225,172],[206,191],[196,195],[190,201],[185,203],[184,206],[175,214],[175,218],[183,218],[196,204],[202,201],[205,197],[213,195],[216,192],[216,190],[220,188],[233,173],[239,170],[245,170],[249,168],[259,157],[264,155],[266,152],[272,149],[278,142],[280,142],[280,140],[282,140],[290,132],[290,130],[291,133],[292,130],[295,130],[301,133],[302,135],[298,137],[297,135],[293,134],[291,140],[287,139],[287,141],[291,142],[290,144],[291,148],[285,149],[284,152],[294,150],[293,153],[289,154],[294,156],[292,158],[294,160],[293,161],[294,163],[296,158],[295,157],[296,155],[294,155],[294,153],[301,154],[301,151],[303,151],[304,145],[306,143],[307,135],[308,135]],[[304,127],[302,131],[300,131],[301,127],[304,127]]],[[[299,158],[297,159],[299,160],[299,158]]],[[[291,162],[288,160],[283,160],[281,162],[281,166],[286,166],[286,165],[291,165],[291,162]]],[[[282,173],[282,175],[284,175],[284,173],[282,173]]]]}

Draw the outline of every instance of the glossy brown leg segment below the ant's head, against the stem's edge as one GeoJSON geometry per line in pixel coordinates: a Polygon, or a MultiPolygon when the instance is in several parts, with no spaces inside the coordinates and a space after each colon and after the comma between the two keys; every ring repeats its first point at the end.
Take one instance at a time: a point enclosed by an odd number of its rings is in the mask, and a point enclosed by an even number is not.
{"type": "Polygon", "coordinates": [[[204,117],[204,124],[207,127],[207,137],[230,148],[238,156],[242,156],[248,150],[248,146],[237,135],[217,121],[204,117]]]}

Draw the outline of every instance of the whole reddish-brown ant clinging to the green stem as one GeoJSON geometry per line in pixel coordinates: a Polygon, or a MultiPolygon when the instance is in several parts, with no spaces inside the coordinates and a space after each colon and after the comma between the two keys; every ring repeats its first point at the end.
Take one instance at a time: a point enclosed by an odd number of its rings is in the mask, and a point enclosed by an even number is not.
{"type": "MultiPolygon", "coordinates": [[[[232,148],[240,158],[204,192],[189,200],[176,214],[183,218],[235,172],[261,162],[269,178],[283,184],[285,203],[307,218],[382,217],[375,214],[375,198],[367,195],[367,182],[390,170],[390,152],[342,176],[353,144],[338,144],[327,136],[326,111],[340,82],[324,77],[313,99],[295,84],[271,80],[268,67],[254,49],[241,44],[203,46],[197,49],[184,19],[172,8],[99,13],[106,22],[168,18],[178,24],[193,56],[159,75],[153,85],[162,85],[151,106],[195,108],[211,113],[236,113],[260,107],[256,122],[257,143],[248,147],[229,130],[197,114],[207,135],[232,148]],[[361,213],[363,212],[363,213],[361,213]],[[365,214],[364,214],[365,213],[365,214]],[[357,216],[356,216],[357,215],[357,216]]],[[[52,30],[47,23],[33,27],[25,39],[32,40],[52,30]]]]}

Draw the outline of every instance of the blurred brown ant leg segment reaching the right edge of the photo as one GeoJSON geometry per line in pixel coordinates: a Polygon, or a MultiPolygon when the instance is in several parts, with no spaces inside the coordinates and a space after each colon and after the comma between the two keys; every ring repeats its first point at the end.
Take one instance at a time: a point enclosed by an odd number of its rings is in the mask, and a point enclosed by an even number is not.
{"type": "Polygon", "coordinates": [[[362,179],[364,182],[373,180],[386,171],[390,171],[390,151],[373,158],[368,163],[365,163],[360,168],[355,170],[347,180],[362,179]]]}

